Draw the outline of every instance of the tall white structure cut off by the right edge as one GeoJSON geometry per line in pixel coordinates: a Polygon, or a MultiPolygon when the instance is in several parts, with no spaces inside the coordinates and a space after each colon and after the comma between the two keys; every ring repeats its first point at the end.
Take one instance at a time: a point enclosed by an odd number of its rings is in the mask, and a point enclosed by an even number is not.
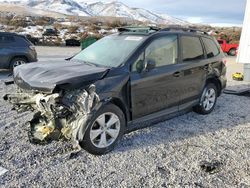
{"type": "Polygon", "coordinates": [[[244,64],[244,81],[250,82],[250,0],[246,0],[237,62],[244,64]]]}

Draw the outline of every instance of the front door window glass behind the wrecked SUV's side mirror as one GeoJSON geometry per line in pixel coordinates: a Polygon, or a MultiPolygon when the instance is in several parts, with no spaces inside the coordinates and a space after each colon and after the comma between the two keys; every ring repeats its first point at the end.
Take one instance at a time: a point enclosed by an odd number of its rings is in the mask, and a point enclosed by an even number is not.
{"type": "Polygon", "coordinates": [[[168,35],[154,40],[133,64],[132,71],[143,68],[148,61],[154,61],[156,67],[175,64],[178,57],[177,35],[168,35]]]}

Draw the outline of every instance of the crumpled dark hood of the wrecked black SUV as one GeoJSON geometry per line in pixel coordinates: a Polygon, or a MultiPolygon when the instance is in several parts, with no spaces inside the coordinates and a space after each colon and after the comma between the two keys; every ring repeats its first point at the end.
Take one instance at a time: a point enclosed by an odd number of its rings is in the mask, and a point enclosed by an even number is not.
{"type": "Polygon", "coordinates": [[[101,79],[108,68],[71,61],[30,63],[14,69],[14,81],[22,89],[52,93],[57,87],[76,88],[101,79]]]}

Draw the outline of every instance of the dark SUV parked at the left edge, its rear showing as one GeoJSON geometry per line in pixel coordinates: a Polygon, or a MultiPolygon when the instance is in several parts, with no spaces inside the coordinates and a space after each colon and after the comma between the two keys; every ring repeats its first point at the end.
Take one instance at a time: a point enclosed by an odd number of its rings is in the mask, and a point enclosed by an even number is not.
{"type": "Polygon", "coordinates": [[[0,69],[13,69],[18,65],[35,61],[35,47],[25,36],[0,32],[0,69]]]}

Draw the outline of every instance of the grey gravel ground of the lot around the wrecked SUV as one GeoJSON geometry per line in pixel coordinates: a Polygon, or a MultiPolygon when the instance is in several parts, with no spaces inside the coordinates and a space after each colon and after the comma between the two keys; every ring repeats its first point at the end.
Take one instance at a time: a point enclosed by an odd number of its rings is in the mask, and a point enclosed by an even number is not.
{"type": "MultiPolygon", "coordinates": [[[[55,49],[39,50],[53,58],[55,49]]],[[[56,50],[57,58],[72,52],[56,50]]],[[[246,84],[230,79],[236,71],[242,66],[228,58],[229,87],[246,84]]],[[[6,90],[12,88],[1,84],[0,95],[6,90]]],[[[70,157],[71,144],[63,141],[30,144],[24,123],[32,114],[0,102],[0,167],[8,169],[0,187],[250,187],[249,97],[223,94],[210,115],[190,112],[130,133],[100,157],[70,157]]]]}

